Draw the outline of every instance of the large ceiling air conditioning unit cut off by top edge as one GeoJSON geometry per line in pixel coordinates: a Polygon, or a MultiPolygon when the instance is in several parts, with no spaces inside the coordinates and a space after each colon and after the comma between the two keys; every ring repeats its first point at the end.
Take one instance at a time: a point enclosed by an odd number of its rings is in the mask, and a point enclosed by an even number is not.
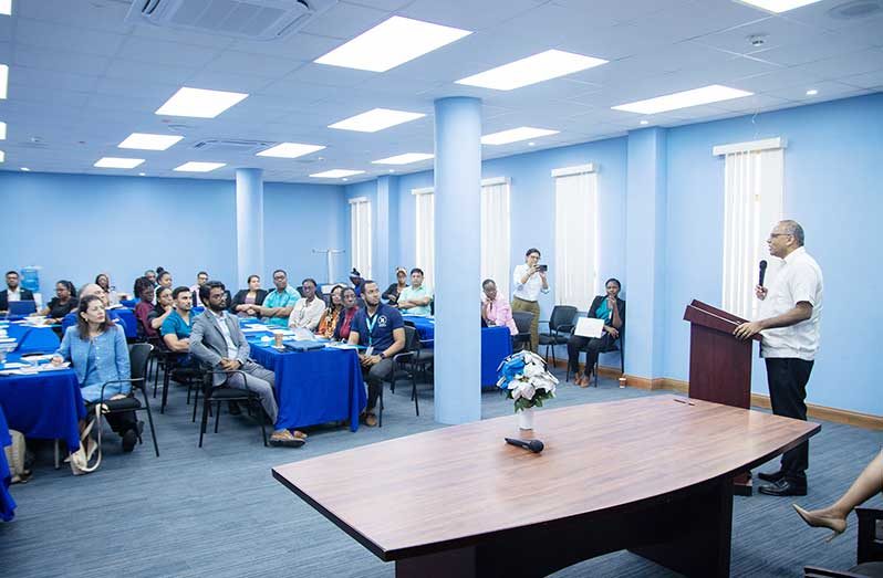
{"type": "Polygon", "coordinates": [[[135,0],[126,22],[273,40],[300,30],[336,3],[337,0],[135,0]]]}

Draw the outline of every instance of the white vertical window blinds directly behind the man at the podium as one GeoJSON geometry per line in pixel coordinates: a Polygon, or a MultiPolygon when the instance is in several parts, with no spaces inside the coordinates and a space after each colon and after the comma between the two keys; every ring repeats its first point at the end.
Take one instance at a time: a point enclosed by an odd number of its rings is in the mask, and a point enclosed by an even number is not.
{"type": "Polygon", "coordinates": [[[725,145],[714,147],[714,154],[725,157],[721,305],[751,319],[759,305],[754,291],[758,263],[767,260],[767,280],[779,267],[779,262],[769,258],[765,240],[782,219],[785,143],[769,138],[725,145]]]}

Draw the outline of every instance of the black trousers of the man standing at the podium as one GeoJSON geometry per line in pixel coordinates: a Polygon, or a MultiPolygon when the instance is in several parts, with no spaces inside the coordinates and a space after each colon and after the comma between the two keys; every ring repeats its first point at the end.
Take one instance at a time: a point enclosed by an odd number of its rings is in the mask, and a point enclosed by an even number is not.
{"type": "MultiPolygon", "coordinates": [[[[772,413],[807,421],[807,382],[812,372],[813,361],[796,357],[772,357],[766,361],[772,413]]],[[[806,485],[807,467],[809,467],[809,441],[782,455],[781,471],[789,482],[806,485]]]]}

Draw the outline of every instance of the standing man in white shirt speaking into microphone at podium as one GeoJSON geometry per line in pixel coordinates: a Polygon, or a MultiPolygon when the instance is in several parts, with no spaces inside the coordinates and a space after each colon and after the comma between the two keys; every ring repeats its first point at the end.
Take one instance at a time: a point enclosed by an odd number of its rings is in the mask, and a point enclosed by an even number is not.
{"type": "MultiPolygon", "coordinates": [[[[767,364],[772,412],[807,420],[807,382],[819,349],[822,314],[822,271],[803,248],[803,228],[797,221],[779,221],[767,239],[769,253],[782,260],[769,287],[755,287],[761,301],[758,319],[736,327],[734,335],[748,339],[760,333],[760,356],[767,364]]],[[[807,495],[809,442],[782,455],[778,472],[760,473],[771,484],[760,493],[773,496],[807,495]]]]}

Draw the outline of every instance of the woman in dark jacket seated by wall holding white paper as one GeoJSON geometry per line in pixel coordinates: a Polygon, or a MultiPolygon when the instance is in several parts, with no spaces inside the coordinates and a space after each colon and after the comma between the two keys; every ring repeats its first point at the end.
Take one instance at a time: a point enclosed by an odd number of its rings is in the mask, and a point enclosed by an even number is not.
{"type": "Polygon", "coordinates": [[[592,299],[586,317],[604,319],[604,330],[601,337],[582,337],[571,335],[568,339],[568,364],[573,371],[574,382],[580,387],[588,387],[592,377],[592,369],[598,361],[598,354],[606,349],[620,338],[620,333],[625,328],[625,302],[619,297],[622,285],[615,279],[604,283],[606,295],[598,295],[592,299]],[[580,351],[586,351],[585,372],[580,372],[580,351]]]}

